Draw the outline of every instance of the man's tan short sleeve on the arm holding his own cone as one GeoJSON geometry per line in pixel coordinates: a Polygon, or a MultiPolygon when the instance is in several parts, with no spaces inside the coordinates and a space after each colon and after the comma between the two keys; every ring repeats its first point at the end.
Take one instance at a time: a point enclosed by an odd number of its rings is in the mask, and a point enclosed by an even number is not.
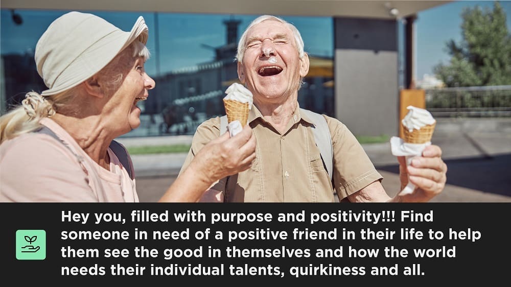
{"type": "Polygon", "coordinates": [[[334,150],[334,188],[339,200],[383,177],[351,131],[335,118],[327,117],[334,150]]]}

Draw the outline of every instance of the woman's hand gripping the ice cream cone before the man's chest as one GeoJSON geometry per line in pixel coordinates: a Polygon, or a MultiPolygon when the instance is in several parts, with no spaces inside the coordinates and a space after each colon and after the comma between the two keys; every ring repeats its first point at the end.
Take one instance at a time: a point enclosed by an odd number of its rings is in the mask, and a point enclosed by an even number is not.
{"type": "Polygon", "coordinates": [[[255,159],[255,136],[246,125],[239,134],[229,137],[226,132],[210,141],[190,164],[198,178],[213,183],[250,168],[255,159]]]}

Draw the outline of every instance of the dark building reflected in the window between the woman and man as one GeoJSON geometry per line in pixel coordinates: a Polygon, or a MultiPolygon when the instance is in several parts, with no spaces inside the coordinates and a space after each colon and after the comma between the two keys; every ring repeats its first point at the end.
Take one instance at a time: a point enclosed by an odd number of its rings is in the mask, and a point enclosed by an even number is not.
{"type": "Polygon", "coordinates": [[[239,23],[235,19],[224,21],[227,42],[220,47],[212,47],[216,55],[213,61],[183,67],[154,78],[158,83],[153,91],[156,97],[148,98],[145,112],[172,113],[171,116],[164,114],[164,119],[173,119],[177,123],[199,115],[204,118],[223,114],[223,91],[238,78],[234,57],[239,23]]]}

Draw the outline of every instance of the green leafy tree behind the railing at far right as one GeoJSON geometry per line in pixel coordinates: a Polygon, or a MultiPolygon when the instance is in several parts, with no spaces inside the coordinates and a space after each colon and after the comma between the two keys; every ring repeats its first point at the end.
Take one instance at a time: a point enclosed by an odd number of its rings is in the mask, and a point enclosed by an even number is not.
{"type": "Polygon", "coordinates": [[[461,43],[446,44],[451,60],[433,68],[436,76],[448,87],[511,85],[511,35],[499,2],[465,8],[461,18],[461,43]]]}

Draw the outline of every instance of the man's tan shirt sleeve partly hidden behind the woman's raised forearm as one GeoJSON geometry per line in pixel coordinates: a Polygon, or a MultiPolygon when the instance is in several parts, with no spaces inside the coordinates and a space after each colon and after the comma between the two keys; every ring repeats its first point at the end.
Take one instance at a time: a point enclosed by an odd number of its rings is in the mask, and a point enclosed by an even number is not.
{"type": "MultiPolygon", "coordinates": [[[[210,118],[197,127],[192,139],[192,147],[188,152],[187,158],[184,160],[179,175],[188,168],[197,153],[210,141],[220,136],[220,117],[210,118]]],[[[179,176],[178,175],[178,176],[179,176]]],[[[210,188],[218,190],[219,192],[225,191],[225,183],[227,178],[220,179],[213,183],[210,188]]]]}

